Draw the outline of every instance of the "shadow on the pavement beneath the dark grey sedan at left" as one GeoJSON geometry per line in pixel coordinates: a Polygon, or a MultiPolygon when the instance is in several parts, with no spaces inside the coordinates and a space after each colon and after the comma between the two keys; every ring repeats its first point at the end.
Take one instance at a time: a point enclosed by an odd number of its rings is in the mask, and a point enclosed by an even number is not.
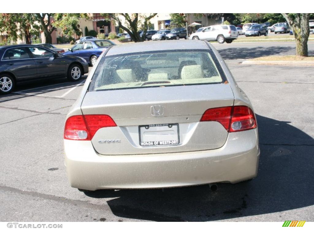
{"type": "MultiPolygon", "coordinates": [[[[17,85],[12,93],[7,95],[0,95],[0,103],[10,100],[21,99],[24,97],[45,95],[48,92],[59,91],[67,88],[71,88],[81,83],[87,78],[87,76],[82,76],[79,81],[68,81],[66,78],[58,79],[46,79],[42,81],[37,81],[35,83],[25,83],[23,85],[17,85]]],[[[82,84],[83,86],[84,84],[82,84]]]]}

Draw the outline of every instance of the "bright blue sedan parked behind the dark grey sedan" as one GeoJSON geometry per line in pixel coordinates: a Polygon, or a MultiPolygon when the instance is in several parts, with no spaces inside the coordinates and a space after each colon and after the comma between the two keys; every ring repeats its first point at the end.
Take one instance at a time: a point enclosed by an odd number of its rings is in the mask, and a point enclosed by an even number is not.
{"type": "Polygon", "coordinates": [[[101,53],[110,46],[116,45],[106,39],[89,39],[78,43],[62,55],[75,55],[84,58],[91,66],[96,64],[101,53]]]}

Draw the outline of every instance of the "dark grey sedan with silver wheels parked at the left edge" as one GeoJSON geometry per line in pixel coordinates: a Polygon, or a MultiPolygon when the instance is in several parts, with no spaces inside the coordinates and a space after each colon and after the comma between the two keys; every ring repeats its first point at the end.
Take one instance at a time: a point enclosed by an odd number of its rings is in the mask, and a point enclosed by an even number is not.
{"type": "Polygon", "coordinates": [[[0,46],[0,58],[0,94],[12,92],[17,83],[56,77],[78,81],[88,73],[85,59],[34,44],[0,46]]]}

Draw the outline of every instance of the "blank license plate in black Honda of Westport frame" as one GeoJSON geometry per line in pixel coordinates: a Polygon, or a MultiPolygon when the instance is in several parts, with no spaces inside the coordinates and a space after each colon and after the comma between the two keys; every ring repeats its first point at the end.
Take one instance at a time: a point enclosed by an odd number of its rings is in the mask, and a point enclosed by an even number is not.
{"type": "Polygon", "coordinates": [[[180,143],[179,124],[138,126],[140,146],[176,145],[180,143]]]}

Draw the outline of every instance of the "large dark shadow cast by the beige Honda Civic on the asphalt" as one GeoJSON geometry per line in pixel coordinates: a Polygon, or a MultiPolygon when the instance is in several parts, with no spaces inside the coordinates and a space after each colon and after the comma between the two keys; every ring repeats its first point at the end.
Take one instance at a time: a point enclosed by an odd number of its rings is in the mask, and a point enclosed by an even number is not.
{"type": "MultiPolygon", "coordinates": [[[[114,198],[107,203],[116,216],[151,221],[216,221],[314,205],[313,138],[290,122],[257,115],[257,123],[261,156],[252,181],[219,183],[215,192],[200,185],[85,194],[114,198]]],[[[277,221],[302,220],[300,216],[281,219],[279,213],[277,221]]]]}

